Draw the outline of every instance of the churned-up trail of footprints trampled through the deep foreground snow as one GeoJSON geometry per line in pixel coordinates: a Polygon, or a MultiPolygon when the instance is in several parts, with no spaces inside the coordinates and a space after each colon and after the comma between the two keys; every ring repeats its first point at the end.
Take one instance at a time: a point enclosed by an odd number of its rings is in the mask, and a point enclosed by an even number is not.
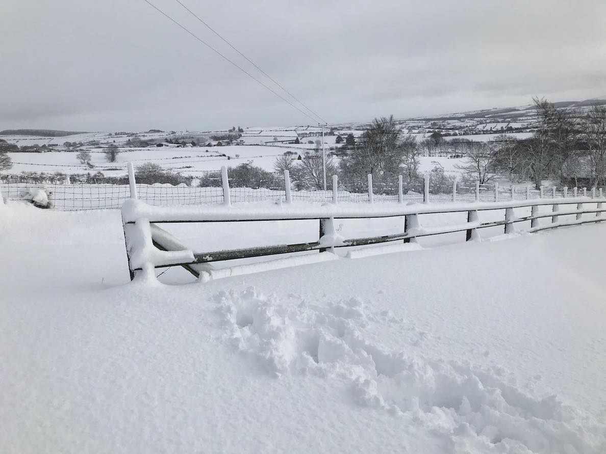
{"type": "Polygon", "coordinates": [[[370,312],[358,298],[282,304],[250,288],[223,291],[215,302],[225,340],[271,377],[344,381],[353,403],[418,424],[456,452],[606,452],[604,424],[555,395],[528,395],[501,368],[390,352],[368,341],[369,323],[404,320],[370,312]]]}

